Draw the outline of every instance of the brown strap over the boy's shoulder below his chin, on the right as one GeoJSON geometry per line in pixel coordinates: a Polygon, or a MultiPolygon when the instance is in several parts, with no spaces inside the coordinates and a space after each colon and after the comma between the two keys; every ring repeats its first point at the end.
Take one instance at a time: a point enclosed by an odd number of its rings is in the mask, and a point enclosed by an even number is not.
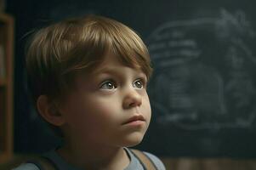
{"type": "Polygon", "coordinates": [[[149,156],[145,155],[145,153],[143,151],[136,150],[136,149],[129,149],[129,150],[131,150],[131,152],[134,154],[134,156],[138,158],[139,162],[141,163],[142,167],[145,170],[156,170],[157,169],[155,163],[151,160],[151,158],[149,156]]]}

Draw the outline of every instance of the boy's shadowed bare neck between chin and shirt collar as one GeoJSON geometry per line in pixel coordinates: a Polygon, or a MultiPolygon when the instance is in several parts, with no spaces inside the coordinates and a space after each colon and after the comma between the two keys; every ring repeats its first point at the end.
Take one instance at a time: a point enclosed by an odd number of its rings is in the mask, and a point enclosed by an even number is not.
{"type": "Polygon", "coordinates": [[[122,147],[104,144],[64,144],[57,150],[65,161],[82,169],[124,169],[129,157],[122,147]]]}

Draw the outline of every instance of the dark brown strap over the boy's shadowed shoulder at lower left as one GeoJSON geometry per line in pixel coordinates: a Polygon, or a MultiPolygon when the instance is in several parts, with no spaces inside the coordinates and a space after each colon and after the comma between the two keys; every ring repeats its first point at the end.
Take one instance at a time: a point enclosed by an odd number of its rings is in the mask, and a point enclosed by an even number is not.
{"type": "Polygon", "coordinates": [[[59,170],[59,168],[55,165],[54,161],[51,161],[46,156],[36,156],[31,160],[25,161],[25,163],[33,163],[40,170],[59,170]]]}

